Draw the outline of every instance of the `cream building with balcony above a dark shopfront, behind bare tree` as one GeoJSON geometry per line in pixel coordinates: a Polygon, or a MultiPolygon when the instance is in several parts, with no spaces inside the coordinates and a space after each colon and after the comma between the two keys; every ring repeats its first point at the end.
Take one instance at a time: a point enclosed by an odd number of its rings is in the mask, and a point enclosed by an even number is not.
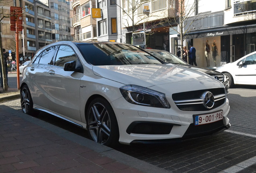
{"type": "Polygon", "coordinates": [[[132,33],[145,32],[146,42],[142,47],[170,51],[169,35],[177,37],[170,25],[175,25],[172,21],[176,18],[178,4],[178,0],[121,0],[122,41],[136,44],[132,42],[132,33]]]}

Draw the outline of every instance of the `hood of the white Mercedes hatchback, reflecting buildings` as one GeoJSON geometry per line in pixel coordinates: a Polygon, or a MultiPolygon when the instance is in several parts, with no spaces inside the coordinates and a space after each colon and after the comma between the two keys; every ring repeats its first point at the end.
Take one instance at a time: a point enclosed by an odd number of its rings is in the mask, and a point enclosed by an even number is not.
{"type": "Polygon", "coordinates": [[[125,85],[136,84],[142,87],[175,82],[186,83],[186,87],[190,87],[192,82],[218,82],[201,72],[174,64],[93,66],[93,73],[125,85]]]}

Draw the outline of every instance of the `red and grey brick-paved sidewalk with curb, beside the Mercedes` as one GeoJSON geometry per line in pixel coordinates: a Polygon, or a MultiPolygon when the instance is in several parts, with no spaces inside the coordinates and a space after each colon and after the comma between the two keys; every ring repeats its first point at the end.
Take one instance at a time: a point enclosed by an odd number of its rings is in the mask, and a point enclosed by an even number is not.
{"type": "Polygon", "coordinates": [[[0,173],[161,172],[157,167],[152,168],[147,163],[123,155],[125,154],[0,105],[0,173]],[[119,157],[128,164],[111,157],[119,157]],[[137,165],[142,171],[129,164],[137,165]]]}

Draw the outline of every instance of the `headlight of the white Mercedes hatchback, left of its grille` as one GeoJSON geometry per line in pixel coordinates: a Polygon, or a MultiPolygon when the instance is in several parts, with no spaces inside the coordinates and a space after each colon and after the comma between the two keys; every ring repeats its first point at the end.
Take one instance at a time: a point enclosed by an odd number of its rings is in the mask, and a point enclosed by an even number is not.
{"type": "Polygon", "coordinates": [[[135,105],[170,108],[165,94],[138,85],[126,85],[120,88],[124,99],[135,105]]]}

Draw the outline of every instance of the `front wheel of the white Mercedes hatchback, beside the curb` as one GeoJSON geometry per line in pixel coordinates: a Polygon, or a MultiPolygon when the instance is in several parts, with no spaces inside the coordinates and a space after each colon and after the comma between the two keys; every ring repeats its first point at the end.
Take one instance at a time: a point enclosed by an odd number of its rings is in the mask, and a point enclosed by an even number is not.
{"type": "Polygon", "coordinates": [[[109,147],[118,145],[116,115],[105,99],[93,99],[87,109],[86,118],[88,135],[93,141],[109,147]]]}

